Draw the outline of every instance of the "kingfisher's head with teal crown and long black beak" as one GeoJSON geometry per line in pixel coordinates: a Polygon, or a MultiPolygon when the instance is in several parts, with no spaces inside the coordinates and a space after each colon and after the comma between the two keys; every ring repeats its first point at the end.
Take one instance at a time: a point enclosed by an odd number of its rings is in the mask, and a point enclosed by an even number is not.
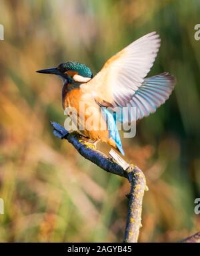
{"type": "Polygon", "coordinates": [[[49,68],[47,70],[37,70],[38,73],[53,74],[59,76],[64,82],[88,82],[93,78],[91,70],[79,62],[68,61],[61,63],[57,68],[49,68]]]}

